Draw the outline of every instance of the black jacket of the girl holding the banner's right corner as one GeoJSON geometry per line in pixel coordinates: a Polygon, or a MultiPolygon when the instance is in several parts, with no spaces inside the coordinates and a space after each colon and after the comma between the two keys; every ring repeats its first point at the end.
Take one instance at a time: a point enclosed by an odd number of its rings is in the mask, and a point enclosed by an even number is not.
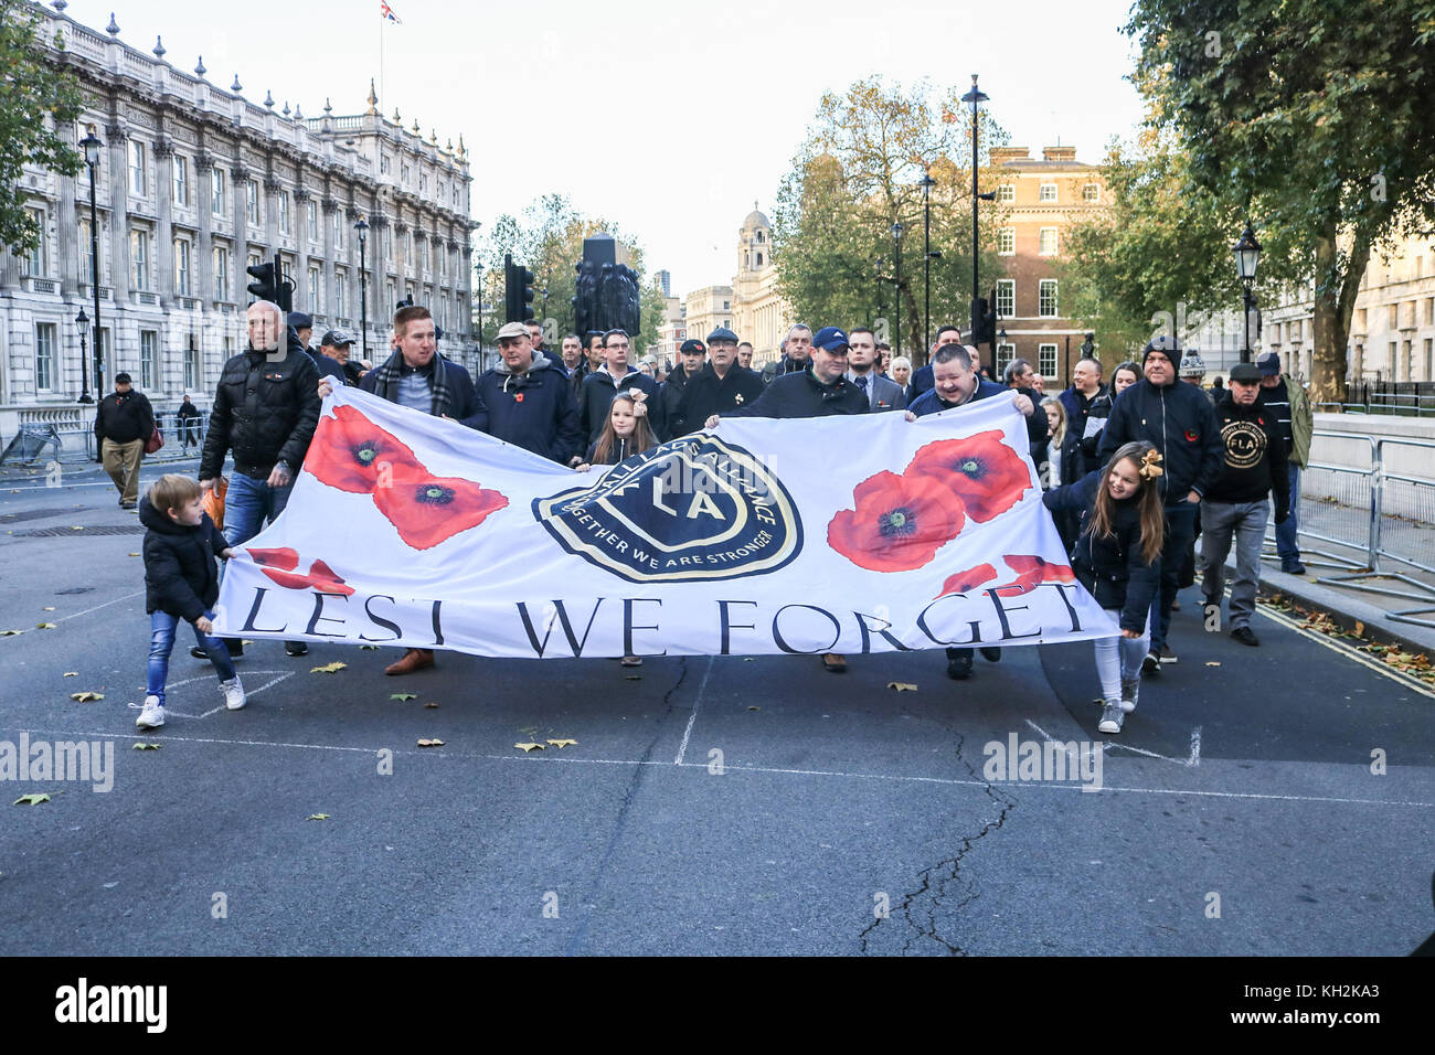
{"type": "Polygon", "coordinates": [[[1075,484],[1052,488],[1042,504],[1052,511],[1081,512],[1081,538],[1072,548],[1072,571],[1104,609],[1121,609],[1121,629],[1137,633],[1147,624],[1151,599],[1161,581],[1159,564],[1147,564],[1141,551],[1141,515],[1137,500],[1116,502],[1115,531],[1098,537],[1092,531],[1092,512],[1101,469],[1093,469],[1075,484]]]}

